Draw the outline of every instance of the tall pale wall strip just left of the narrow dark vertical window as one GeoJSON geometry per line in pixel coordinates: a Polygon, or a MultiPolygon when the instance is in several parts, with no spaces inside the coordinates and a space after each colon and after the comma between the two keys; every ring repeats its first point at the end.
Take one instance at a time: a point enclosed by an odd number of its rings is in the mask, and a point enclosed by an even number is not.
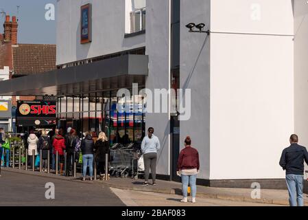
{"type": "MultiPolygon", "coordinates": [[[[146,87],[154,89],[169,89],[169,1],[147,0],[146,19],[146,52],[149,55],[149,76],[146,87]],[[159,12],[159,16],[158,15],[159,12]]],[[[169,175],[169,114],[147,113],[146,130],[154,127],[154,135],[161,142],[158,152],[156,173],[169,175]]],[[[146,132],[147,135],[147,132],[146,132]]]]}

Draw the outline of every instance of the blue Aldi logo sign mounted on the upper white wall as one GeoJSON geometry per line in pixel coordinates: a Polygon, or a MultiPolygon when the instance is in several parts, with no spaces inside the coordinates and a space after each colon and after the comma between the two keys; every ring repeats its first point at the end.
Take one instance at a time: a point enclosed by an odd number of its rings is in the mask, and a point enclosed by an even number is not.
{"type": "Polygon", "coordinates": [[[91,39],[91,4],[88,3],[87,5],[83,5],[81,7],[81,14],[80,14],[80,25],[81,25],[81,36],[80,36],[80,43],[89,43],[92,41],[91,39]]]}

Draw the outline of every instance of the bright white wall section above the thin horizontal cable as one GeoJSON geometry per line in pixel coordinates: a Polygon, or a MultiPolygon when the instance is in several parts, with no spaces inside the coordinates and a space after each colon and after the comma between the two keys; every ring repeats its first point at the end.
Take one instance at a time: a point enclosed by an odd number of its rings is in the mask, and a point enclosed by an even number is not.
{"type": "Polygon", "coordinates": [[[213,0],[211,31],[292,35],[292,1],[213,0]]]}

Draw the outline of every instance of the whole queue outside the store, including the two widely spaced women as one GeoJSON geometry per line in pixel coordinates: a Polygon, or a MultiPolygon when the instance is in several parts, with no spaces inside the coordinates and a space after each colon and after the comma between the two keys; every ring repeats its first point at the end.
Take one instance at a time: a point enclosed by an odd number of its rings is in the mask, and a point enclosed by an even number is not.
{"type": "MultiPolygon", "coordinates": [[[[3,129],[0,129],[0,157],[3,154],[1,144],[3,141],[3,129]]],[[[118,134],[119,135],[119,134],[118,134]]],[[[67,166],[65,175],[73,175],[73,159],[78,161],[82,157],[82,181],[86,180],[87,170],[89,171],[89,179],[93,180],[93,164],[97,162],[97,171],[99,175],[105,173],[105,159],[108,154],[110,161],[110,141],[104,132],[97,133],[88,131],[84,133],[84,137],[80,139],[75,129],[67,129],[67,135],[64,135],[63,129],[55,129],[47,133],[43,129],[38,136],[31,131],[27,137],[27,151],[29,155],[28,165],[32,167],[32,159],[37,159],[39,152],[42,151],[42,168],[43,172],[47,173],[47,168],[50,166],[51,171],[56,169],[56,155],[58,152],[58,170],[60,174],[64,173],[64,151],[67,152],[67,166]],[[39,137],[38,137],[39,136],[39,137]],[[51,163],[48,164],[48,152],[51,158],[51,163]],[[33,157],[34,153],[34,157],[33,157]],[[82,156],[79,156],[82,154],[82,156]],[[74,158],[74,155],[76,157],[74,158]]],[[[118,137],[119,138],[119,137],[118,137]]],[[[128,139],[126,137],[125,139],[128,139]]],[[[187,189],[191,187],[191,202],[196,202],[196,178],[200,169],[199,154],[196,148],[191,146],[191,138],[186,137],[184,141],[185,148],[180,151],[178,157],[177,175],[182,179],[182,195],[181,202],[187,202],[187,189]]],[[[150,171],[152,174],[152,185],[156,186],[156,162],[158,151],[161,145],[158,137],[154,135],[154,128],[150,127],[147,130],[147,135],[143,137],[141,142],[141,152],[143,153],[143,162],[145,165],[145,181],[143,186],[149,186],[150,171]]],[[[308,159],[308,155],[307,155],[308,159]]],[[[1,173],[0,173],[1,174],[1,173]]]]}

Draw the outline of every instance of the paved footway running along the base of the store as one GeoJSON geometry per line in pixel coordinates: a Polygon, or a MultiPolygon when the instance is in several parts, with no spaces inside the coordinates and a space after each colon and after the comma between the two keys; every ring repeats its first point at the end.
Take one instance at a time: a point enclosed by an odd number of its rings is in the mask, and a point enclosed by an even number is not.
{"type": "MultiPolygon", "coordinates": [[[[6,172],[23,173],[25,175],[36,175],[50,177],[54,179],[62,179],[66,181],[80,181],[81,177],[64,177],[60,175],[32,172],[30,170],[19,170],[12,168],[2,168],[6,172]]],[[[108,181],[96,180],[85,181],[83,184],[99,184],[109,188],[120,190],[132,190],[139,192],[155,192],[169,195],[181,195],[182,185],[174,181],[156,180],[156,186],[143,186],[143,179],[130,179],[121,177],[111,177],[108,181]]],[[[249,203],[264,203],[269,205],[289,206],[289,196],[287,190],[269,190],[261,189],[261,198],[252,199],[252,188],[213,188],[206,186],[197,186],[197,198],[207,199],[225,199],[229,201],[245,201],[249,203]]],[[[304,194],[305,206],[308,206],[308,195],[304,194]]]]}

